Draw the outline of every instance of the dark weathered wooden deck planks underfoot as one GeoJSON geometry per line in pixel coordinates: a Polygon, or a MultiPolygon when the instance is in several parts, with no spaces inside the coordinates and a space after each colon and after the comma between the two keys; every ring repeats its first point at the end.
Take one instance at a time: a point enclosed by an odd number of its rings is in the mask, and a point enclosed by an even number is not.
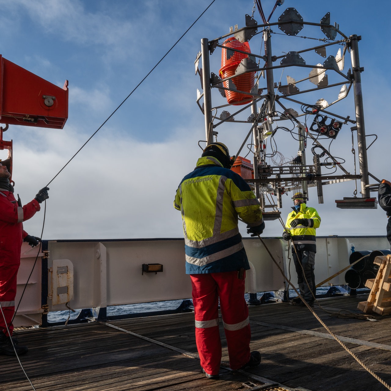
{"type": "MultiPolygon", "coordinates": [[[[355,310],[362,298],[322,300],[327,307],[355,310]]],[[[336,341],[319,335],[301,334],[273,325],[326,331],[307,307],[286,303],[251,307],[252,350],[262,353],[262,364],[248,373],[284,384],[318,390],[386,389],[366,372],[336,341]],[[257,324],[268,323],[271,326],[257,324]]],[[[315,312],[335,334],[391,345],[391,317],[378,322],[330,317],[315,312]]],[[[192,313],[142,317],[110,322],[116,326],[191,353],[197,353],[192,313]]],[[[223,357],[228,352],[221,327],[223,357]]],[[[164,346],[144,341],[100,323],[57,326],[18,332],[20,343],[29,346],[21,356],[23,367],[37,391],[229,391],[260,386],[262,381],[234,376],[221,369],[221,380],[208,380],[199,360],[164,346]],[[246,383],[246,385],[244,385],[246,383]]],[[[360,359],[384,380],[391,382],[391,352],[346,343],[360,359]]],[[[0,356],[0,391],[29,391],[22,369],[13,357],[0,356]]]]}

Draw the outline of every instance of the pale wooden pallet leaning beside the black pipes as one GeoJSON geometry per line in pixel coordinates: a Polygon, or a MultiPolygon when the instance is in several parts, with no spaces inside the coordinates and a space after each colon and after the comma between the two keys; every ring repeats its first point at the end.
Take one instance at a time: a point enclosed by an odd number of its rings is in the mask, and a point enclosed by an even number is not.
{"type": "Polygon", "coordinates": [[[387,315],[391,313],[391,255],[377,256],[373,263],[379,265],[376,278],[366,281],[365,286],[371,292],[368,300],[361,301],[357,308],[364,313],[387,315]]]}

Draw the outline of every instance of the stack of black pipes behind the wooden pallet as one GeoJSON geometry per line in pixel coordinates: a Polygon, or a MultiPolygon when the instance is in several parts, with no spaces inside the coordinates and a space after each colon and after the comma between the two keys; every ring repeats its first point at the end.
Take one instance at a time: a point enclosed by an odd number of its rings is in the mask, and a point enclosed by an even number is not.
{"type": "Polygon", "coordinates": [[[350,254],[350,264],[353,264],[363,256],[364,258],[346,271],[345,282],[351,289],[364,288],[366,280],[376,277],[379,267],[373,263],[375,258],[388,254],[391,254],[390,250],[355,251],[350,254]]]}

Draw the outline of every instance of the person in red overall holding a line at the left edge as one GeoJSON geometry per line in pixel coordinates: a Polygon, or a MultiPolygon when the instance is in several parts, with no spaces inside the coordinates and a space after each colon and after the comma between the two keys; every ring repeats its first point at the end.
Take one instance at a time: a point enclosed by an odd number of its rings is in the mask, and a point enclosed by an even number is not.
{"type": "Polygon", "coordinates": [[[0,162],[0,353],[9,356],[27,353],[27,346],[11,338],[14,326],[16,275],[20,265],[22,240],[34,247],[41,239],[23,231],[23,221],[30,219],[47,199],[49,188],[39,190],[35,198],[25,206],[14,197],[14,188],[9,182],[11,173],[0,162]]]}

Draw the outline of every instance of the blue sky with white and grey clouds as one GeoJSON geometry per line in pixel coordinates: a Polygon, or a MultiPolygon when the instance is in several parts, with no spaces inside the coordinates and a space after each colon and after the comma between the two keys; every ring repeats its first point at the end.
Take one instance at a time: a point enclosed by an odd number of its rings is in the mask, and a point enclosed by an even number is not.
{"type": "MultiPolygon", "coordinates": [[[[211,2],[0,0],[0,54],[57,86],[62,87],[65,79],[69,81],[69,117],[64,129],[10,126],[4,133],[5,140],[13,139],[13,180],[23,203],[56,176],[211,2]]],[[[274,3],[262,1],[266,17],[274,3]]],[[[50,183],[43,239],[183,237],[181,216],[172,201],[181,178],[194,168],[200,156],[199,140],[205,139],[203,114],[196,104],[201,86],[195,75],[195,57],[201,50],[201,38],[212,40],[228,34],[236,24],[244,27],[246,14],[254,12],[261,24],[253,5],[253,0],[215,0],[50,183]]],[[[369,171],[377,178],[390,179],[386,163],[390,139],[387,102],[391,92],[386,56],[390,45],[385,37],[391,4],[381,2],[375,7],[364,0],[330,0],[315,6],[310,0],[285,0],[270,22],[277,22],[288,7],[296,8],[306,22],[319,23],[330,12],[331,23],[338,23],[346,36],[362,36],[359,53],[364,67],[361,78],[366,134],[378,136],[368,150],[369,171]]],[[[276,56],[319,45],[319,41],[287,37],[277,26],[272,30],[276,56]]],[[[298,36],[325,38],[319,27],[315,31],[307,26],[298,36]]],[[[262,34],[251,39],[250,47],[259,54],[262,34]]],[[[336,52],[337,47],[333,47],[327,56],[335,56],[336,52]]],[[[220,53],[217,49],[210,57],[211,72],[215,74],[221,65],[220,53]]],[[[313,61],[323,63],[324,59],[316,56],[313,61]]],[[[350,66],[349,58],[345,66],[350,66]]],[[[304,73],[308,75],[309,71],[305,68],[304,73]]],[[[274,81],[286,84],[287,75],[299,80],[301,75],[295,72],[276,70],[274,81]]],[[[339,88],[316,91],[309,103],[319,98],[333,101],[339,88]]],[[[224,104],[217,95],[212,95],[212,103],[224,104]]],[[[354,117],[353,94],[332,107],[335,113],[354,117]]],[[[233,154],[249,128],[248,124],[219,126],[218,141],[226,143],[233,154]]],[[[368,136],[367,145],[374,138],[368,136]]],[[[288,132],[276,132],[275,141],[284,158],[296,156],[298,145],[288,132]]],[[[357,151],[357,142],[355,148],[357,151]]],[[[344,167],[353,172],[351,150],[352,136],[346,125],[330,151],[346,160],[344,167]]],[[[247,152],[245,147],[242,156],[247,152]]],[[[6,158],[5,151],[0,151],[0,158],[6,158]]],[[[252,160],[251,155],[248,158],[252,160]]],[[[360,191],[360,184],[357,186],[360,191]]],[[[354,190],[353,181],[325,186],[325,203],[318,204],[316,189],[310,189],[308,204],[322,217],[318,235],[385,234],[387,219],[380,208],[336,208],[335,199],[352,197],[354,190]]],[[[284,220],[290,206],[290,195],[283,197],[284,220]]],[[[43,221],[42,210],[24,223],[25,230],[39,236],[43,221]]],[[[242,234],[247,235],[244,224],[240,224],[242,234]]],[[[280,236],[281,232],[279,221],[266,222],[266,237],[280,236]]]]}

